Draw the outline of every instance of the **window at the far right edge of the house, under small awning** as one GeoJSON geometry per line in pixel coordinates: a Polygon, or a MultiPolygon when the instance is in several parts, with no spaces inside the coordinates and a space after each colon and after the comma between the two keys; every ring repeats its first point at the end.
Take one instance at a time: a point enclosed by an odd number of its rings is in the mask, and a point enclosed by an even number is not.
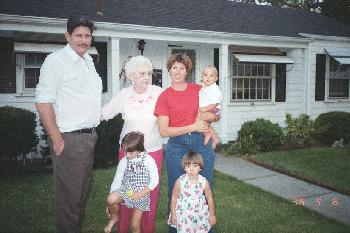
{"type": "Polygon", "coordinates": [[[340,65],[330,58],[329,98],[349,98],[350,65],[340,65]]]}

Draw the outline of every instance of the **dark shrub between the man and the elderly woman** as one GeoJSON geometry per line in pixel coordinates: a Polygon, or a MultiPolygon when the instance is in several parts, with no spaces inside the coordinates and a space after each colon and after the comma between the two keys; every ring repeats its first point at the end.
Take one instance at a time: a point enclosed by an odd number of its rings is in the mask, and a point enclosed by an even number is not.
{"type": "Polygon", "coordinates": [[[121,115],[102,121],[97,127],[98,141],[95,148],[95,167],[115,165],[119,150],[119,135],[123,127],[121,115]]]}

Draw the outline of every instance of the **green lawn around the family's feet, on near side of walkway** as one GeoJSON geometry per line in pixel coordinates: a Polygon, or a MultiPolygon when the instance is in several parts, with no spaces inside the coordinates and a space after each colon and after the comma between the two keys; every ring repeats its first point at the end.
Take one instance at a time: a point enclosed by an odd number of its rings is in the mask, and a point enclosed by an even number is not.
{"type": "MultiPolygon", "coordinates": [[[[105,199],[115,169],[94,171],[93,191],[83,232],[103,232],[107,223],[105,199]]],[[[167,232],[166,177],[163,172],[156,232],[167,232]]],[[[214,175],[216,233],[341,233],[350,226],[323,217],[222,173],[214,175]]],[[[53,233],[51,176],[0,180],[0,232],[53,233]]]]}

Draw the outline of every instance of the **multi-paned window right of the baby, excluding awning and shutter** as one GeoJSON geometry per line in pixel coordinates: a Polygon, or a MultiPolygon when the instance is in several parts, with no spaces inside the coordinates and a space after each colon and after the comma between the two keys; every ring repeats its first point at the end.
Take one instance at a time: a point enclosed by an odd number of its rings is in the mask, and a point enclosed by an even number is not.
{"type": "Polygon", "coordinates": [[[272,64],[234,62],[231,100],[271,100],[272,64]]]}

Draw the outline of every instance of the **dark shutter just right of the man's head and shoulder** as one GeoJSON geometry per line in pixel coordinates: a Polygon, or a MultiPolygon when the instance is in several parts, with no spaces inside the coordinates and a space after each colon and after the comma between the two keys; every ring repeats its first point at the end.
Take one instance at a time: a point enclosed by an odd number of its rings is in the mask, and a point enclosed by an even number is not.
{"type": "Polygon", "coordinates": [[[102,79],[103,92],[107,91],[107,43],[95,42],[95,48],[98,52],[98,59],[95,62],[97,73],[102,79]]]}

